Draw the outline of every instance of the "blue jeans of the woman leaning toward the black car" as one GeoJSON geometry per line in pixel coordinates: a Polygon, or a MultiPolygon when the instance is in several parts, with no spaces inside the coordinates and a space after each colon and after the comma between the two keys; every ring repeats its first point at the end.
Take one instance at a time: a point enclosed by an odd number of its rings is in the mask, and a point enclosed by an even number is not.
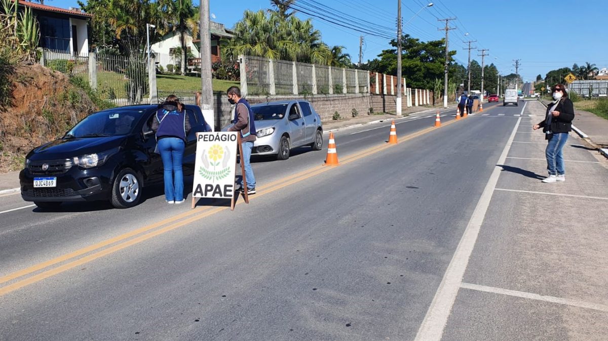
{"type": "Polygon", "coordinates": [[[165,198],[169,201],[184,199],[184,140],[176,137],[165,137],[158,140],[162,166],[165,169],[165,198]]]}

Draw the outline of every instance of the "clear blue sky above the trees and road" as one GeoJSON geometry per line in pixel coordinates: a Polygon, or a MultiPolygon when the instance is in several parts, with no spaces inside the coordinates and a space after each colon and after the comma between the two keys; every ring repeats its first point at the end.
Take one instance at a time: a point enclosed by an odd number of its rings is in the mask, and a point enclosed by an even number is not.
{"type": "MultiPolygon", "coordinates": [[[[86,1],[86,0],[83,0],[86,1]]],[[[198,4],[198,0],[193,0],[198,4]]],[[[297,13],[302,19],[311,18],[314,27],[322,34],[329,46],[344,46],[353,62],[359,61],[359,36],[364,36],[363,58],[374,59],[384,49],[390,49],[390,39],[396,37],[397,4],[395,0],[300,0],[302,4],[323,8],[323,21],[305,13],[297,13]],[[337,16],[353,25],[364,22],[374,29],[342,27],[335,23],[337,16]],[[348,19],[354,17],[357,19],[348,19]],[[381,35],[381,36],[377,36],[381,35]]],[[[601,27],[606,23],[606,0],[500,0],[468,2],[435,0],[427,7],[427,0],[401,0],[403,32],[421,41],[445,37],[445,21],[449,21],[449,49],[456,50],[455,59],[466,67],[468,44],[471,43],[471,59],[481,64],[482,52],[486,51],[485,63],[494,63],[502,75],[515,72],[514,60],[519,59],[519,74],[524,81],[534,81],[537,75],[545,76],[550,70],[572,67],[590,62],[602,69],[608,67],[608,44],[601,27]],[[483,5],[480,5],[482,3],[483,5]],[[416,15],[416,13],[418,13],[416,15]],[[468,33],[468,35],[466,35],[468,33]]],[[[298,0],[295,2],[298,3],[298,0]]],[[[78,7],[77,0],[46,0],[45,4],[56,7],[78,7]]],[[[232,27],[243,18],[246,9],[260,10],[271,7],[268,0],[210,0],[212,21],[232,27]]]]}

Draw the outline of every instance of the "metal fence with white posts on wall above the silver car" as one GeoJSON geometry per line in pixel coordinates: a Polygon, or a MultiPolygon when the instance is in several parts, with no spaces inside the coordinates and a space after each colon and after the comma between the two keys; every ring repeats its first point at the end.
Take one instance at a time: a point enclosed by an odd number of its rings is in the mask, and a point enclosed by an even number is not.
{"type": "Polygon", "coordinates": [[[239,58],[241,87],[247,89],[248,95],[367,93],[369,89],[366,70],[253,56],[239,58]]]}

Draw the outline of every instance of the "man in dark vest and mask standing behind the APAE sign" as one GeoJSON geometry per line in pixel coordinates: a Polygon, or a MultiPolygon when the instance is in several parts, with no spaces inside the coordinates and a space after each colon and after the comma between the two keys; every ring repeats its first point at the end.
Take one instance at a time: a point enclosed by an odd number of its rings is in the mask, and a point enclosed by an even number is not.
{"type": "MultiPolygon", "coordinates": [[[[245,177],[247,179],[247,194],[255,194],[255,176],[254,170],[249,162],[251,158],[251,150],[254,148],[254,141],[257,139],[255,132],[254,112],[251,110],[249,103],[244,98],[241,98],[241,89],[237,86],[228,88],[228,101],[230,104],[237,104],[234,110],[234,120],[232,126],[228,127],[229,132],[240,132],[241,146],[243,146],[243,166],[245,168],[245,177]]],[[[241,179],[240,192],[244,192],[243,179],[241,179]]]]}

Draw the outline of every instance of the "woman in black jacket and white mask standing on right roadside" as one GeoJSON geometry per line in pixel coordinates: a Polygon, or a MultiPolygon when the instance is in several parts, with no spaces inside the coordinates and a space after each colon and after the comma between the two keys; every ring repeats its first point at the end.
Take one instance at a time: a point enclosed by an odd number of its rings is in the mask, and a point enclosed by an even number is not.
{"type": "Polygon", "coordinates": [[[549,176],[542,180],[544,183],[566,181],[563,149],[568,140],[568,132],[572,130],[572,120],[574,120],[574,105],[568,98],[564,84],[553,86],[551,93],[553,93],[554,101],[547,106],[545,120],[532,127],[534,130],[542,128],[545,140],[548,140],[545,156],[549,176]]]}

